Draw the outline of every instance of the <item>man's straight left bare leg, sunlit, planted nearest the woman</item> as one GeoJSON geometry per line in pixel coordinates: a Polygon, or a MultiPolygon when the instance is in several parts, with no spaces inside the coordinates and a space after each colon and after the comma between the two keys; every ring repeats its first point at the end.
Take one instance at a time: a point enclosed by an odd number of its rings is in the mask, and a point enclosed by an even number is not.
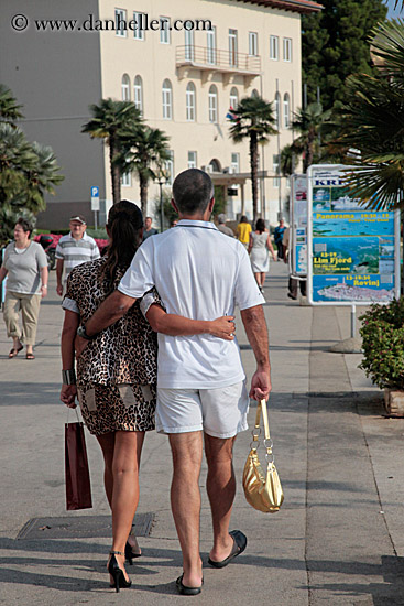
{"type": "Polygon", "coordinates": [[[186,587],[200,587],[203,578],[199,554],[201,432],[172,433],[170,445],[174,467],[171,506],[183,551],[183,584],[186,587]]]}

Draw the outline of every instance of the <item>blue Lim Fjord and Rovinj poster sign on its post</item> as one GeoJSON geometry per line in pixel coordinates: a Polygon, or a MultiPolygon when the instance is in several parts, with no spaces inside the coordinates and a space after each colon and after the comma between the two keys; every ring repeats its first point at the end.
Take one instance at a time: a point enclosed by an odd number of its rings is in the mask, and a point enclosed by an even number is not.
{"type": "Polygon", "coordinates": [[[360,206],[346,187],[347,171],[308,169],[308,300],[351,307],[351,343],[342,350],[353,353],[356,306],[400,297],[400,213],[360,206]]]}

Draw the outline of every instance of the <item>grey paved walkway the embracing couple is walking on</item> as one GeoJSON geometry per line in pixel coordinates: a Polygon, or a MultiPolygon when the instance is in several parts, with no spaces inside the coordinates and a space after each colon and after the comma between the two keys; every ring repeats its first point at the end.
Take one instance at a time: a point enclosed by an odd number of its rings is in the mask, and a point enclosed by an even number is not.
{"type": "MultiPolygon", "coordinates": [[[[264,515],[244,500],[240,480],[251,437],[244,432],[236,445],[239,486],[232,528],[242,529],[249,544],[225,570],[206,565],[204,591],[195,602],[404,605],[404,421],[385,418],[380,391],[357,368],[360,355],[327,351],[349,336],[350,310],[302,307],[287,299],[286,284],[284,264],[272,263],[265,284],[273,369],[270,415],[285,504],[279,513],[264,515]]],[[[66,409],[58,402],[63,314],[54,288],[52,272],[35,360],[21,354],[7,359],[11,342],[0,321],[0,604],[183,604],[186,598],[174,586],[181,551],[170,511],[171,455],[164,436],[150,433],[144,446],[139,513],[153,513],[154,524],[149,537],[140,538],[143,556],[128,569],[131,589],[116,596],[108,588],[108,529],[101,535],[88,530],[94,516],[109,513],[101,456],[89,434],[94,508],[65,511],[66,409]],[[58,517],[84,522],[84,531],[64,538],[58,517]],[[17,540],[35,518],[45,518],[51,528],[40,531],[34,523],[39,537],[17,540]]],[[[253,355],[240,321],[238,338],[251,376],[253,355]]],[[[252,407],[251,425],[254,414],[252,407]]],[[[211,528],[205,479],[204,465],[206,562],[211,528]]]]}

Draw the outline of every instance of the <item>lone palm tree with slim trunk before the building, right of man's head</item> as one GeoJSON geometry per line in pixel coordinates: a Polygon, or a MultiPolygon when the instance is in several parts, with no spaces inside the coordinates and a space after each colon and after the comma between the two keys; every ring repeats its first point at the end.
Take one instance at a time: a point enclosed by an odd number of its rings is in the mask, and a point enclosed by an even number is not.
{"type": "Polygon", "coordinates": [[[252,214],[253,220],[258,219],[258,160],[259,143],[269,142],[270,134],[276,134],[274,128],[276,119],[272,104],[265,101],[262,97],[244,97],[241,99],[237,109],[232,110],[233,118],[230,127],[230,138],[234,143],[240,143],[244,139],[250,141],[250,167],[251,167],[251,187],[252,187],[252,214]]]}

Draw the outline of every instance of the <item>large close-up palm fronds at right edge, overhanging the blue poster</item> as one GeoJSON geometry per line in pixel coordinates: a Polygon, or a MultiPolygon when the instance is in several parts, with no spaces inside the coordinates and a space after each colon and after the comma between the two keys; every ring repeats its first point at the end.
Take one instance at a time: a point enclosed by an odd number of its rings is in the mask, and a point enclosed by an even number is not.
{"type": "Polygon", "coordinates": [[[350,190],[369,208],[404,207],[404,23],[391,21],[373,32],[372,54],[380,69],[348,80],[339,110],[339,137],[350,190]],[[349,151],[347,151],[349,150],[349,151]]]}

